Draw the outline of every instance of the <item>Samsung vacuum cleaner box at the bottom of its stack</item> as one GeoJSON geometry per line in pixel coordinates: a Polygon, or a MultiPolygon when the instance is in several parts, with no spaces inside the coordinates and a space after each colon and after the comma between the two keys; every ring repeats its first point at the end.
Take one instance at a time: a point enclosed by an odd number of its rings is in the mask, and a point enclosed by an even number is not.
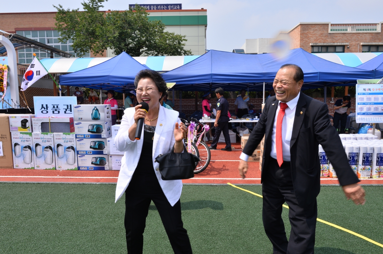
{"type": "Polygon", "coordinates": [[[109,158],[107,154],[79,154],[77,155],[79,170],[109,170],[109,158]]]}

